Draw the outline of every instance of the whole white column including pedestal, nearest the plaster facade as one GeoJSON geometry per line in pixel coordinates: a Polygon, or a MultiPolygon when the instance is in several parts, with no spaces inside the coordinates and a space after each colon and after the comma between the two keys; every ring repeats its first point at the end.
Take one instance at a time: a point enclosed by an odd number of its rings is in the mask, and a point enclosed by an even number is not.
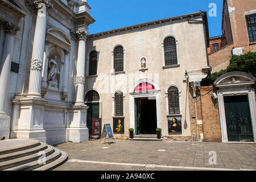
{"type": "Polygon", "coordinates": [[[70,111],[71,125],[67,129],[67,138],[72,142],[84,142],[89,140],[89,131],[86,126],[86,111],[88,107],[84,102],[85,41],[88,34],[83,29],[76,31],[76,36],[79,40],[77,55],[76,102],[70,111]]]}

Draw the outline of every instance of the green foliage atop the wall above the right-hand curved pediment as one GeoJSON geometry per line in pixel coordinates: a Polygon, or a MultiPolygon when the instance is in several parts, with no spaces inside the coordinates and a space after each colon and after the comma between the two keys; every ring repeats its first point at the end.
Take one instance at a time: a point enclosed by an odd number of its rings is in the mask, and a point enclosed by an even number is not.
{"type": "Polygon", "coordinates": [[[241,56],[233,55],[228,68],[212,73],[210,82],[213,83],[221,75],[234,71],[246,72],[256,77],[256,52],[248,52],[241,56]]]}

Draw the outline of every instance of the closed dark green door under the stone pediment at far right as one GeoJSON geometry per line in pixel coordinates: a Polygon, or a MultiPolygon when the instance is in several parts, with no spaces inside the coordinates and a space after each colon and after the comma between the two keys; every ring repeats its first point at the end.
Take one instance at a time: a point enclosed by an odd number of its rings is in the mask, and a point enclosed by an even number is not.
{"type": "Polygon", "coordinates": [[[247,96],[224,97],[229,141],[253,141],[247,96]]]}

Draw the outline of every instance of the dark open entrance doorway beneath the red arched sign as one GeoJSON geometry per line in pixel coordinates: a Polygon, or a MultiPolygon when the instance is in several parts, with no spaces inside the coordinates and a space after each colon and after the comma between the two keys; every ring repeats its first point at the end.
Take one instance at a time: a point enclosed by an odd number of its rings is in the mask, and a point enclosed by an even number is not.
{"type": "Polygon", "coordinates": [[[136,134],[156,134],[156,100],[148,97],[135,98],[136,134]]]}

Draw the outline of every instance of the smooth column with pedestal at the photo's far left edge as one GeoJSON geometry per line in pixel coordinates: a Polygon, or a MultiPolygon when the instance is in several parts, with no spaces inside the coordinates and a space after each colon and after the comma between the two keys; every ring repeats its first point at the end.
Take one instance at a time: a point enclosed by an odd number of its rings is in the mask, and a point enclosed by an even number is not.
{"type": "Polygon", "coordinates": [[[9,92],[9,78],[11,71],[11,61],[13,55],[14,35],[19,27],[13,23],[4,23],[5,42],[3,43],[3,55],[0,64],[0,139],[9,139],[10,116],[6,114],[7,97],[9,92]]]}

